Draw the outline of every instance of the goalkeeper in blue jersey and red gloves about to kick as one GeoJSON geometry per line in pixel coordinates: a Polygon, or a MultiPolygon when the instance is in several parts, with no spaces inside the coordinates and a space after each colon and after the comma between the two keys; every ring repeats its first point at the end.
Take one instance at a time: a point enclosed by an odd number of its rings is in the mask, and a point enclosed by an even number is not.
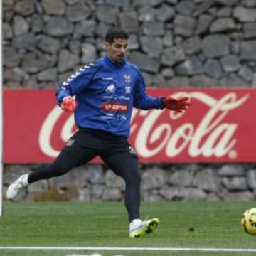
{"type": "Polygon", "coordinates": [[[100,156],[125,182],[124,203],[129,218],[131,238],[153,232],[158,218],[141,220],[139,161],[127,142],[132,108],[186,111],[188,97],[151,97],[139,69],[125,58],[128,47],[126,32],[110,28],[105,36],[107,53],[94,63],[85,65],[58,86],[58,105],[74,112],[78,131],[69,139],[52,164],[43,164],[31,174],[23,174],[7,189],[14,199],[29,184],[66,174],[73,167],[100,156]],[[75,96],[75,98],[73,97],[75,96]]]}

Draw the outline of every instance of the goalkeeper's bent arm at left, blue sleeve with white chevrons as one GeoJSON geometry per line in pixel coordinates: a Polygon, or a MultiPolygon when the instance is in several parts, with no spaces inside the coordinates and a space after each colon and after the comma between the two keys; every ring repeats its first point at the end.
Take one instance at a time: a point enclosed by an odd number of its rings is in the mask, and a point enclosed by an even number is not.
{"type": "Polygon", "coordinates": [[[63,99],[77,95],[80,91],[84,90],[92,80],[100,65],[88,64],[80,68],[75,74],[71,75],[63,84],[58,86],[55,93],[58,105],[60,106],[63,99]]]}

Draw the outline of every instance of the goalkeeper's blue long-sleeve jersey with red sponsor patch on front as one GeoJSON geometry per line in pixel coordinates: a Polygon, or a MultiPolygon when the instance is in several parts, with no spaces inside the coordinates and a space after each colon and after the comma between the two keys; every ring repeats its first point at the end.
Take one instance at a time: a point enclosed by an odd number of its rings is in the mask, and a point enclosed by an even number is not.
{"type": "Polygon", "coordinates": [[[124,137],[129,137],[132,107],[164,108],[162,97],[146,94],[142,74],[135,65],[127,60],[114,63],[107,54],[58,86],[58,105],[64,97],[74,95],[78,128],[100,129],[124,137]]]}

